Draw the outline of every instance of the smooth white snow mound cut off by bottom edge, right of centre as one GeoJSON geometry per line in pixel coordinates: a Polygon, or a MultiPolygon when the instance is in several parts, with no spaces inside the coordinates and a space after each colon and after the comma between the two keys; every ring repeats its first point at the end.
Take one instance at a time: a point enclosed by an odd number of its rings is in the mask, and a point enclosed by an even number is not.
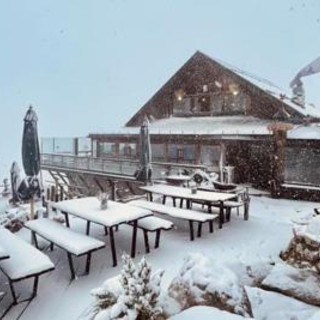
{"type": "MultiPolygon", "coordinates": [[[[184,310],[170,318],[170,320],[244,320],[244,318],[217,308],[198,306],[184,310]]],[[[278,319],[277,319],[278,320],[278,319]]]]}

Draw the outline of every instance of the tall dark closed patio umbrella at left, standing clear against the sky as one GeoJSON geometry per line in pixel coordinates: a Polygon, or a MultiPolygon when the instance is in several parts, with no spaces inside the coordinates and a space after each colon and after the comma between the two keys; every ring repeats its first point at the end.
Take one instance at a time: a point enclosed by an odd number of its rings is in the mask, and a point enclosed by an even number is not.
{"type": "Polygon", "coordinates": [[[31,200],[31,218],[33,218],[33,197],[40,194],[38,175],[40,172],[40,146],[38,138],[38,117],[32,106],[29,107],[24,117],[22,136],[22,163],[28,176],[31,200]]]}

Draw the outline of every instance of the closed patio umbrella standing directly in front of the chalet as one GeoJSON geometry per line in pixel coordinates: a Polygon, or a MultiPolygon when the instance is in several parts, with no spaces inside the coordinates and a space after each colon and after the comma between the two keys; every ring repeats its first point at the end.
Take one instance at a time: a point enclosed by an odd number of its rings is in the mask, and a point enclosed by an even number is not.
{"type": "Polygon", "coordinates": [[[144,120],[140,128],[140,166],[142,170],[142,181],[151,182],[152,166],[151,166],[151,143],[149,135],[149,121],[144,120]]]}

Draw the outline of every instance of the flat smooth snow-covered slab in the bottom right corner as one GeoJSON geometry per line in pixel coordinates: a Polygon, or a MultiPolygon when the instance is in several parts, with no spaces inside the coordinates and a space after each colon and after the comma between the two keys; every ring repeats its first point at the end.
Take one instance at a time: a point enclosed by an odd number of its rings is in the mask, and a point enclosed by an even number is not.
{"type": "Polygon", "coordinates": [[[252,287],[246,287],[246,292],[256,320],[306,320],[319,311],[280,293],[252,287]]]}

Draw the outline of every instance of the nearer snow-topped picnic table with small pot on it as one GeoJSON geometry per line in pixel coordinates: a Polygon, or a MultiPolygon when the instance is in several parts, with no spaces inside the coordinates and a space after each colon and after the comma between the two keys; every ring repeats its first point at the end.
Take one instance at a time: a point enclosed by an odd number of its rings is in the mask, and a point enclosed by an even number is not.
{"type": "Polygon", "coordinates": [[[96,197],[65,200],[52,203],[51,206],[65,215],[67,227],[70,227],[69,215],[86,220],[87,235],[90,232],[90,223],[104,226],[110,237],[113,266],[117,265],[114,227],[123,223],[130,223],[133,226],[131,257],[134,258],[136,254],[138,220],[153,215],[150,210],[132,207],[128,204],[111,200],[108,201],[107,209],[101,209],[100,201],[96,197]]]}

